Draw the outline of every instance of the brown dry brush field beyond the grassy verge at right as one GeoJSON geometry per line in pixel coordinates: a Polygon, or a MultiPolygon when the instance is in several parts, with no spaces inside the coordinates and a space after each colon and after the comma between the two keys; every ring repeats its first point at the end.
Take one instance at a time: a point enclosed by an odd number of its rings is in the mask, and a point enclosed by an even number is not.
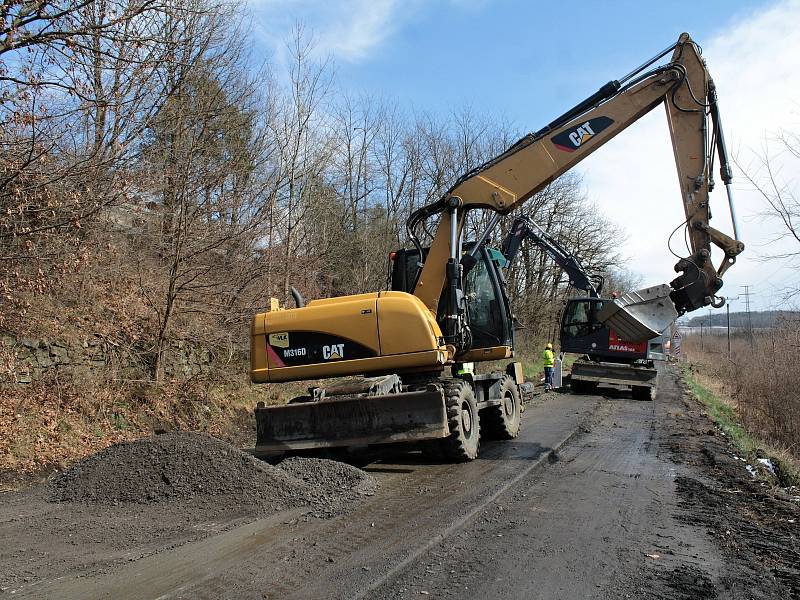
{"type": "Polygon", "coordinates": [[[742,425],[800,459],[800,330],[797,323],[725,336],[687,336],[683,351],[704,383],[729,398],[742,425]]]}

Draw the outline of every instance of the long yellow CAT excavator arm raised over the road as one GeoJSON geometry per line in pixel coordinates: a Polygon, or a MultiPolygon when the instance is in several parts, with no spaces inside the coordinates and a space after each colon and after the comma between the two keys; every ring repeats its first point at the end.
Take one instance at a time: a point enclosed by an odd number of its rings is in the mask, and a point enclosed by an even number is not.
{"type": "MultiPolygon", "coordinates": [[[[688,34],[625,77],[611,81],[543,129],[526,135],[508,150],[463,175],[444,196],[415,211],[407,223],[420,250],[417,229],[438,216],[439,223],[414,288],[434,314],[440,298],[449,304],[445,338],[458,346],[460,263],[458,240],[468,211],[494,211],[479,240],[488,237],[500,215],[507,214],[542,190],[659,105],[667,112],[680,199],[686,216],[691,254],[675,265],[680,273],[670,284],[669,299],[679,314],[724,302],[716,296],[722,275],[736,261],[744,244],[735,239],[736,221],[730,193],[731,169],[717,107],[716,90],[700,49],[688,34]],[[671,60],[655,66],[672,52],[671,60]],[[715,152],[716,151],[716,152],[715,152]],[[734,237],[711,227],[709,192],[713,188],[715,153],[728,191],[734,237]],[[711,244],[724,253],[711,263],[711,244]],[[447,293],[443,294],[443,291],[447,293]]],[[[666,286],[662,286],[666,287],[666,286]]],[[[672,307],[670,306],[670,311],[672,307]]]]}

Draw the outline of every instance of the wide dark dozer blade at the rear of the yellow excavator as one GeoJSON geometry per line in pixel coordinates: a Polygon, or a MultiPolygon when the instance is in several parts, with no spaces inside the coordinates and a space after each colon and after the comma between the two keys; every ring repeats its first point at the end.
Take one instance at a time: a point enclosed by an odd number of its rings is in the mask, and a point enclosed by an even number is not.
{"type": "Polygon", "coordinates": [[[256,409],[257,452],[447,437],[440,391],[337,398],[256,409]]]}

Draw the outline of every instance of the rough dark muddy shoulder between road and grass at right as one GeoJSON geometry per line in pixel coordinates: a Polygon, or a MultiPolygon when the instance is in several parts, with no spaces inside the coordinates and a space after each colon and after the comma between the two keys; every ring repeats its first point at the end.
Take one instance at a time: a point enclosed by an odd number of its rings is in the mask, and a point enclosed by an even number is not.
{"type": "Polygon", "coordinates": [[[699,568],[684,556],[672,568],[648,565],[622,585],[631,597],[656,600],[800,598],[800,507],[779,489],[754,481],[729,441],[688,396],[673,368],[672,406],[663,415],[658,456],[676,465],[673,519],[704,532],[722,568],[699,568]]]}

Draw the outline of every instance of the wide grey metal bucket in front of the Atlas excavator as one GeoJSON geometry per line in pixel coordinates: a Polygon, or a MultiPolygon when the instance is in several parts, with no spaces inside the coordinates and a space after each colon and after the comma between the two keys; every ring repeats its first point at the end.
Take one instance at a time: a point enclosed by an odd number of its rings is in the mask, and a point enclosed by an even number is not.
{"type": "Polygon", "coordinates": [[[606,302],[598,317],[624,340],[651,340],[678,318],[670,292],[666,284],[630,292],[606,302]]]}

